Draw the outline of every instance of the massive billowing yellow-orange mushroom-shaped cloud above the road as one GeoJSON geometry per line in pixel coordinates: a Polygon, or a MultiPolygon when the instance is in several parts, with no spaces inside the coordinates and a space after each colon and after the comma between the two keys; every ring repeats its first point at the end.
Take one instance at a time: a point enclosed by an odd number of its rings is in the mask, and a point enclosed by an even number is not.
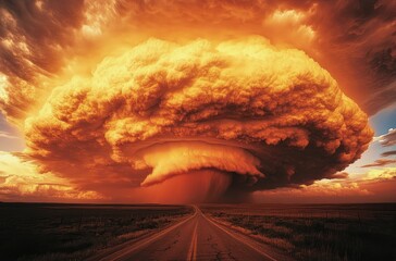
{"type": "Polygon", "coordinates": [[[54,88],[25,134],[42,171],[103,194],[201,172],[221,192],[310,184],[372,139],[325,70],[262,37],[149,39],[54,88]]]}

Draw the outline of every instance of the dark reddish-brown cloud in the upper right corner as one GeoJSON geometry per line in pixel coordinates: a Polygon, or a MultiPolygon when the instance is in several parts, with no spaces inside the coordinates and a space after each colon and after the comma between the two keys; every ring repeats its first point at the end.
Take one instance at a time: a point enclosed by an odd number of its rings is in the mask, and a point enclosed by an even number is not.
{"type": "Polygon", "coordinates": [[[321,1],[312,22],[327,54],[338,55],[338,64],[345,64],[347,94],[370,114],[395,102],[395,1],[321,1]]]}

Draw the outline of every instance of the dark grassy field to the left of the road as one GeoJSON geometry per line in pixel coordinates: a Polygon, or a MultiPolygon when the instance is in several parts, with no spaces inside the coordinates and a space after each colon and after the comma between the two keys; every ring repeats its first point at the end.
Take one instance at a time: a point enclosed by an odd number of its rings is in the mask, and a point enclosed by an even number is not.
{"type": "Polygon", "coordinates": [[[189,213],[181,206],[0,203],[0,260],[83,260],[189,213]]]}

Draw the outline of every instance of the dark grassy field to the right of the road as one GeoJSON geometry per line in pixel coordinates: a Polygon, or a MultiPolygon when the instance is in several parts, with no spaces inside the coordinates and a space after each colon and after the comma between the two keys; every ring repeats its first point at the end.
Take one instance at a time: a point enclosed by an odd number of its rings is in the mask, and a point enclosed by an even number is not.
{"type": "Polygon", "coordinates": [[[205,213],[297,260],[396,260],[396,204],[208,204],[205,213]]]}

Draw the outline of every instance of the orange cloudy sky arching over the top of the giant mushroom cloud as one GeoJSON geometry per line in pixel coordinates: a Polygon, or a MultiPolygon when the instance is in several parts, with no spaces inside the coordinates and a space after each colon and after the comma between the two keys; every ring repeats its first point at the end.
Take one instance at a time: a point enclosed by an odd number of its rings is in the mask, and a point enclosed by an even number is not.
{"type": "Polygon", "coordinates": [[[150,37],[185,42],[261,35],[320,62],[373,114],[395,97],[395,2],[7,1],[0,5],[0,104],[22,125],[54,85],[150,37]]]}

